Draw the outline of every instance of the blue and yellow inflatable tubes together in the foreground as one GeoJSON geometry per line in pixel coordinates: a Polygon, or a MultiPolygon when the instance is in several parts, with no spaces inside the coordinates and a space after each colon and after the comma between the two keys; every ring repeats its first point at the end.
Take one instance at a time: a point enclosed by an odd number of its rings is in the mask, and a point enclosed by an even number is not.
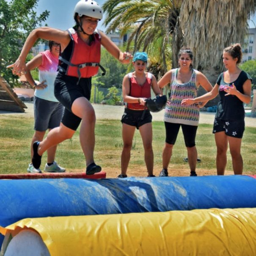
{"type": "MultiPolygon", "coordinates": [[[[0,231],[32,228],[51,256],[256,255],[255,193],[252,176],[0,180],[0,231]],[[84,254],[63,237],[69,233],[84,254]]],[[[11,242],[3,245],[7,252],[11,242]]]]}

